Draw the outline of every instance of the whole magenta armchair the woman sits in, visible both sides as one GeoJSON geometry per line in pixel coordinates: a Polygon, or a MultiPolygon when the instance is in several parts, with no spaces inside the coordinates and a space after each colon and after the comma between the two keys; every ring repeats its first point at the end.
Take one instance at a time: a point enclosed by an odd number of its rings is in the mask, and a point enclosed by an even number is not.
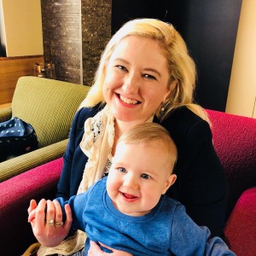
{"type": "MultiPolygon", "coordinates": [[[[224,166],[230,200],[226,241],[238,255],[256,255],[256,119],[207,110],[213,144],[224,166]]],[[[27,223],[29,201],[53,198],[62,159],[0,183],[0,255],[20,255],[35,241],[27,223]]]]}

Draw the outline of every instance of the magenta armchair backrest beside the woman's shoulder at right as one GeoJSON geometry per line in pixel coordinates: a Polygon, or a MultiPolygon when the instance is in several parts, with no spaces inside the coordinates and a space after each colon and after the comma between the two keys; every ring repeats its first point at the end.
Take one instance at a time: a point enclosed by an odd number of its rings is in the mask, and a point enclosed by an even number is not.
{"type": "Polygon", "coordinates": [[[228,215],[242,192],[256,187],[256,119],[207,110],[213,145],[229,186],[228,215]]]}

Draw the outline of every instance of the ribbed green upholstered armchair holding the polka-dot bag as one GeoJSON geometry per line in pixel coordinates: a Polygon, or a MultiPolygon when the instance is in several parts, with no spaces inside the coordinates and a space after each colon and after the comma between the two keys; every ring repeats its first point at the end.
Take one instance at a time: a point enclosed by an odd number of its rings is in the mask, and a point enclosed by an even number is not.
{"type": "Polygon", "coordinates": [[[18,80],[11,108],[0,110],[0,122],[15,116],[23,119],[37,132],[39,146],[0,163],[0,182],[64,154],[73,116],[89,88],[37,77],[18,80]]]}

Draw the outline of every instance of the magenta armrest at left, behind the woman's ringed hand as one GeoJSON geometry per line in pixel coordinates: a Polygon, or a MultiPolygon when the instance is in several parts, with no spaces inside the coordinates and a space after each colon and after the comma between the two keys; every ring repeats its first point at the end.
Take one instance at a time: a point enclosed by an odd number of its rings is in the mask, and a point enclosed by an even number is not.
{"type": "Polygon", "coordinates": [[[27,208],[32,199],[53,199],[61,175],[62,158],[0,183],[0,255],[21,255],[33,242],[27,208]]]}

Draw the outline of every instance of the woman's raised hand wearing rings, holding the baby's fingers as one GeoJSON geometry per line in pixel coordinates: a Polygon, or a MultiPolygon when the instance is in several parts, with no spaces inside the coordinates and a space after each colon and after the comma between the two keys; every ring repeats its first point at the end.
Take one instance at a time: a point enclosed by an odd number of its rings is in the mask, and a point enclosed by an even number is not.
{"type": "Polygon", "coordinates": [[[32,200],[27,209],[28,222],[32,225],[32,231],[38,241],[45,247],[55,247],[67,236],[72,224],[72,213],[69,205],[65,205],[67,219],[62,222],[62,211],[58,201],[37,202],[32,200]],[[45,213],[45,209],[47,209],[45,213]]]}

